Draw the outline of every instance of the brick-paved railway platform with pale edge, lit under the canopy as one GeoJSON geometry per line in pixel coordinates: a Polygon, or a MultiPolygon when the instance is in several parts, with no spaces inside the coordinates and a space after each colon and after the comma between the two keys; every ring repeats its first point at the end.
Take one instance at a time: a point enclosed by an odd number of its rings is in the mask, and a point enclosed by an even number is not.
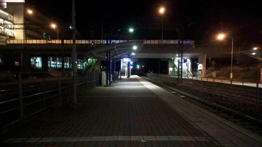
{"type": "Polygon", "coordinates": [[[1,139],[0,146],[261,147],[262,137],[142,77],[122,77],[60,106],[1,139]]]}

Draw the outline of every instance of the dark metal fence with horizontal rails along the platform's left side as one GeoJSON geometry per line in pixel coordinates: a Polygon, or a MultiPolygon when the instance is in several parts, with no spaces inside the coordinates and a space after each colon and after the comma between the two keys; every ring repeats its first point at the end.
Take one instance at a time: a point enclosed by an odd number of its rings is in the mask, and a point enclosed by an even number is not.
{"type": "MultiPolygon", "coordinates": [[[[72,98],[73,76],[77,94],[101,83],[101,72],[0,73],[0,128],[35,115],[72,98]]],[[[69,101],[70,103],[70,101],[69,101]]]]}

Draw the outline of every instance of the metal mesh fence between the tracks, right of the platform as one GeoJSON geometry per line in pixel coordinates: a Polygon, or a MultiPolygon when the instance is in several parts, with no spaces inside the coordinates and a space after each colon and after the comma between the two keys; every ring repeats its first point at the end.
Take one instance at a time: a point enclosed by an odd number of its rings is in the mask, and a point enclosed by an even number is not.
{"type": "MultiPolygon", "coordinates": [[[[161,80],[167,83],[177,84],[178,78],[165,74],[142,73],[142,76],[151,77],[154,80],[161,80]]],[[[255,105],[255,108],[262,107],[262,85],[261,83],[251,83],[243,81],[228,81],[214,78],[183,77],[182,83],[176,85],[179,88],[183,85],[186,90],[194,89],[199,97],[209,93],[210,101],[215,102],[216,96],[222,96],[225,99],[234,99],[255,105]]],[[[182,89],[184,90],[184,89],[182,89]]]]}

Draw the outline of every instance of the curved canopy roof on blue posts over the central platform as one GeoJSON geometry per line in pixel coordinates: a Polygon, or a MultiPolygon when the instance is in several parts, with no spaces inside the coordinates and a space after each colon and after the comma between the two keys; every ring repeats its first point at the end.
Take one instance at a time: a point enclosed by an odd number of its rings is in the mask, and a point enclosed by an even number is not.
{"type": "Polygon", "coordinates": [[[111,51],[111,57],[126,57],[132,53],[139,53],[145,40],[132,40],[121,43],[114,43],[104,47],[96,48],[92,51],[88,51],[84,55],[97,60],[105,60],[106,52],[111,51]],[[136,49],[134,49],[136,47],[136,49]]]}

